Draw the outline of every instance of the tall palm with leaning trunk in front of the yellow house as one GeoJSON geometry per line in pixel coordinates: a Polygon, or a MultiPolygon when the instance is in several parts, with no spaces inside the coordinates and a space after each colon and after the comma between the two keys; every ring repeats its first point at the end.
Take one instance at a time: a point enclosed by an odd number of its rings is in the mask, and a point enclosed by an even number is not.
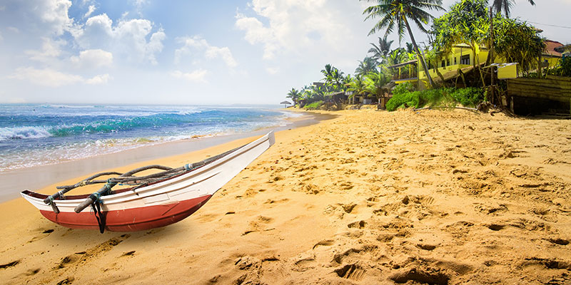
{"type": "MultiPolygon", "coordinates": [[[[363,0],[362,0],[363,1],[363,0]]],[[[416,44],[415,37],[413,35],[413,31],[410,30],[410,24],[408,24],[408,19],[415,22],[415,24],[420,28],[420,31],[428,33],[426,28],[423,24],[428,23],[428,20],[432,19],[433,16],[428,14],[428,10],[444,10],[442,5],[442,0],[365,0],[365,1],[375,1],[378,5],[370,6],[363,14],[367,14],[365,17],[365,21],[367,19],[373,19],[376,17],[380,17],[380,21],[373,26],[373,28],[369,32],[369,36],[376,31],[379,31],[383,28],[387,28],[385,35],[392,32],[393,29],[397,28],[398,38],[399,41],[403,38],[405,33],[405,28],[408,30],[408,35],[410,36],[410,40],[413,41],[413,46],[420,58],[421,63],[423,64],[424,72],[426,77],[428,78],[428,82],[430,86],[435,87],[435,83],[433,78],[430,77],[430,73],[428,73],[428,66],[426,65],[426,61],[423,55],[420,53],[418,49],[418,45],[416,44]]]]}

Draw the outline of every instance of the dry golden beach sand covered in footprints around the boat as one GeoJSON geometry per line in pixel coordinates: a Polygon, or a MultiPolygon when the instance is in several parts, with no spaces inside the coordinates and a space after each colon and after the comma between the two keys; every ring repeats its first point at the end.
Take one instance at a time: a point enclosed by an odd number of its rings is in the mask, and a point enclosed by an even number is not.
{"type": "MultiPolygon", "coordinates": [[[[71,230],[24,199],[2,203],[1,283],[571,284],[570,120],[333,114],[277,133],[168,227],[71,230]]],[[[178,166],[248,141],[152,163],[178,166]]]]}

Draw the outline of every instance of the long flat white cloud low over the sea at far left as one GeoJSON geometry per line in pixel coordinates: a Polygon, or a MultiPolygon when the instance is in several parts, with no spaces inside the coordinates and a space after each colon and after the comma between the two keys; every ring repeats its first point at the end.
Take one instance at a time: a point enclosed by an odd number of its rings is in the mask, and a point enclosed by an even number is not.
{"type": "Polygon", "coordinates": [[[39,86],[60,87],[75,83],[107,83],[109,75],[104,74],[101,76],[94,76],[94,78],[85,79],[75,74],[62,73],[51,68],[36,69],[33,67],[21,67],[16,68],[16,72],[8,78],[29,81],[39,86]]]}

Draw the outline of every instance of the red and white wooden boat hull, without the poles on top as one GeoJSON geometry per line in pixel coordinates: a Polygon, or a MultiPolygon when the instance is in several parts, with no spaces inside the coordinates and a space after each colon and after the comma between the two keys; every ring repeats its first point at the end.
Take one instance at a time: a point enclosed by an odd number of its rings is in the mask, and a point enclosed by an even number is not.
{"type": "MultiPolygon", "coordinates": [[[[216,191],[274,142],[271,132],[194,170],[142,187],[126,188],[101,196],[98,202],[105,218],[102,223],[104,229],[133,232],[181,221],[200,209],[216,191]]],[[[72,229],[99,229],[92,207],[86,207],[79,213],[74,211],[89,195],[59,197],[51,205],[44,203],[48,195],[29,190],[21,192],[21,195],[51,222],[72,229]],[[52,206],[56,207],[55,212],[52,206]]]]}

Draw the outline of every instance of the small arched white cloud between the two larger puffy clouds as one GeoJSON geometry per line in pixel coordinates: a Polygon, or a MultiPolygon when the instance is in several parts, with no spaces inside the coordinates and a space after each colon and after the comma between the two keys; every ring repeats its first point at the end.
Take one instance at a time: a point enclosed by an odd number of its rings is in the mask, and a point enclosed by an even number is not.
{"type": "Polygon", "coordinates": [[[236,63],[236,60],[232,56],[230,48],[227,46],[211,46],[206,39],[200,36],[177,38],[177,41],[183,43],[183,46],[174,51],[175,63],[180,63],[181,58],[184,56],[202,53],[203,56],[208,59],[221,58],[224,63],[226,63],[226,66],[230,68],[238,66],[238,63],[236,63]]]}

